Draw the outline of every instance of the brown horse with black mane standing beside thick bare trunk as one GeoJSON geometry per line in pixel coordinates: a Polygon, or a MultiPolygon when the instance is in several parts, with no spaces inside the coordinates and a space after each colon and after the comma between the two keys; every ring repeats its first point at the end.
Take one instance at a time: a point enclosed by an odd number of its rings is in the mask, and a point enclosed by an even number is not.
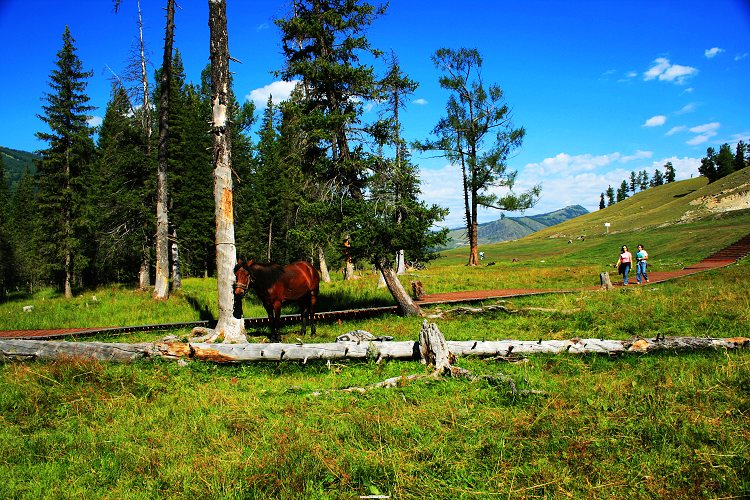
{"type": "Polygon", "coordinates": [[[310,319],[310,332],[315,335],[315,304],[320,290],[320,275],[308,262],[300,261],[286,266],[259,264],[252,259],[237,260],[234,268],[235,298],[242,300],[245,292],[252,288],[271,320],[272,342],[281,340],[279,318],[281,304],[296,300],[302,315],[302,335],[305,334],[307,319],[310,319]]]}

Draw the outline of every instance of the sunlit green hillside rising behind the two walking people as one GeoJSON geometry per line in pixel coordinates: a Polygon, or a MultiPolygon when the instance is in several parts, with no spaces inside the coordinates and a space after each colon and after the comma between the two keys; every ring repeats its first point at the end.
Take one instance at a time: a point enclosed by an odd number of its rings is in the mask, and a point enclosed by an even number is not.
{"type": "MultiPolygon", "coordinates": [[[[611,269],[622,245],[644,244],[655,269],[680,269],[748,233],[750,167],[712,184],[698,177],[653,187],[524,238],[480,245],[480,250],[498,266],[544,262],[550,276],[562,278],[562,268],[590,280],[611,269]]],[[[464,262],[466,253],[465,247],[441,252],[441,264],[464,262]]]]}

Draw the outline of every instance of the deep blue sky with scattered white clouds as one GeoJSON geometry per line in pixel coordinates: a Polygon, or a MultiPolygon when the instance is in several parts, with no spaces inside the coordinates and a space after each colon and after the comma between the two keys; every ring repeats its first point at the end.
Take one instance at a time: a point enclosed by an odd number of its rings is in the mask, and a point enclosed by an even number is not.
{"type": "MultiPolygon", "coordinates": [[[[161,61],[165,3],[143,0],[152,70],[161,61]]],[[[208,63],[208,3],[178,4],[175,47],[188,80],[197,82],[208,63]]],[[[282,98],[289,85],[272,75],[282,63],[273,19],[290,2],[228,4],[230,51],[242,62],[231,68],[235,93],[260,104],[269,92],[282,98]]],[[[44,130],[36,115],[66,24],[94,72],[93,121],[103,116],[111,71],[122,73],[134,50],[135,0],[122,0],[118,14],[108,0],[0,0],[0,145],[44,147],[34,137],[44,130]]],[[[447,94],[431,55],[440,47],[480,51],[485,83],[504,89],[515,125],[527,131],[510,164],[518,189],[542,184],[527,214],[571,204],[595,210],[599,193],[630,171],[652,173],[671,161],[678,179],[689,178],[707,147],[750,141],[746,0],[392,0],[368,36],[374,47],[394,51],[420,84],[402,115],[409,140],[427,138],[443,115],[447,94]]],[[[460,226],[457,168],[441,158],[415,154],[414,161],[424,199],[450,208],[446,225],[460,226]]],[[[482,212],[480,222],[499,217],[482,212]]]]}

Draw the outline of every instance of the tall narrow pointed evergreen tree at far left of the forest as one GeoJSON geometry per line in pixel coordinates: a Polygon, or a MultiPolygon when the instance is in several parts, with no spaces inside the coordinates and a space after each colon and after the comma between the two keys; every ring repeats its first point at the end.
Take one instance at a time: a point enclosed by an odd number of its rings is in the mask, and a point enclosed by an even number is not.
{"type": "Polygon", "coordinates": [[[88,262],[84,247],[88,237],[85,216],[86,175],[94,157],[92,130],[88,126],[86,79],[76,55],[75,40],[68,27],[57,53],[57,69],[50,74],[53,91],[44,97],[44,114],[39,118],[50,132],[36,136],[47,142],[37,165],[39,209],[45,238],[39,242],[42,260],[61,285],[66,297],[73,296],[73,284],[88,262]]]}

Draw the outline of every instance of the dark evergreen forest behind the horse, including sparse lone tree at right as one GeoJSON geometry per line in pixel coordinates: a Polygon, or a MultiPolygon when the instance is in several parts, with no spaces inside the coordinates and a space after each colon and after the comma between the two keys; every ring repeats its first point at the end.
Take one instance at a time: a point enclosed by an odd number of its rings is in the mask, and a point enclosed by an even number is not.
{"type": "MultiPolygon", "coordinates": [[[[165,267],[176,288],[183,276],[216,273],[211,66],[199,82],[187,81],[171,45],[173,0],[167,5],[155,84],[145,72],[141,30],[141,57],[129,69],[135,76],[113,77],[97,129],[88,123],[92,72],[65,28],[39,114],[46,130],[37,137],[47,147],[38,152],[37,172],[11,192],[0,169],[0,293],[48,284],[66,295],[113,282],[148,287],[165,267]],[[164,232],[168,260],[158,255],[164,232]]],[[[524,131],[511,125],[500,87],[485,89],[475,49],[436,52],[449,92],[446,117],[431,137],[406,144],[400,113],[418,83],[364,35],[385,12],[364,1],[295,1],[276,21],[284,53],[276,76],[299,82],[291,97],[269,98],[256,127],[253,104],[238,102],[229,87],[231,217],[243,255],[316,261],[324,276],[332,265],[349,277],[357,263],[386,273],[404,259],[433,258],[447,233],[433,228],[446,211],[419,200],[414,148],[437,150],[460,166],[470,233],[477,206],[515,210],[538,198],[538,187],[502,198],[490,193],[512,188],[508,158],[524,131]],[[381,62],[382,76],[360,62],[364,54],[381,62]],[[368,103],[381,108],[369,123],[368,103]]],[[[476,241],[472,265],[474,254],[476,241]]]]}

